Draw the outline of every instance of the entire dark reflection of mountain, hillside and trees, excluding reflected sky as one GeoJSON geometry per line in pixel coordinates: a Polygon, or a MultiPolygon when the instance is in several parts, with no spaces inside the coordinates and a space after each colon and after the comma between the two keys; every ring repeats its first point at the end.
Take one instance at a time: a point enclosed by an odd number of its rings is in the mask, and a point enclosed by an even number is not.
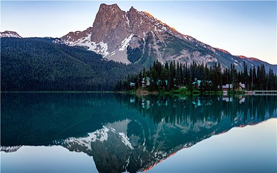
{"type": "Polygon", "coordinates": [[[143,172],[214,134],[277,117],[276,96],[1,93],[1,151],[61,145],[102,173],[143,172]]]}

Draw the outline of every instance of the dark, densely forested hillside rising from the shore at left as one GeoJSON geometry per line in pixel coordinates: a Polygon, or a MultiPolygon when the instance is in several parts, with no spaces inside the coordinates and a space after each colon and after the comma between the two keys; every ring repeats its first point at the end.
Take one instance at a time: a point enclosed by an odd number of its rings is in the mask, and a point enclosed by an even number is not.
{"type": "Polygon", "coordinates": [[[1,38],[1,91],[105,91],[141,67],[46,38],[1,38]]]}

